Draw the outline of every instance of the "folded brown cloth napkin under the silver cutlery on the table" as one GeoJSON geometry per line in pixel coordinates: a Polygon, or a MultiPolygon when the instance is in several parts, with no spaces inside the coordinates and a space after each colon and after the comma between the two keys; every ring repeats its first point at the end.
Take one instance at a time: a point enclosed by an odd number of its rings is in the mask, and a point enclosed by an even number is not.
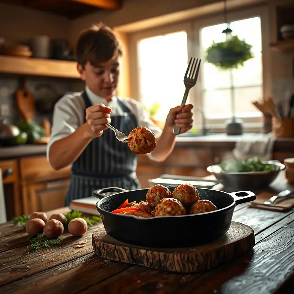
{"type": "Polygon", "coordinates": [[[262,192],[260,194],[257,193],[257,199],[252,202],[249,202],[248,207],[272,211],[287,211],[294,207],[294,196],[292,196],[292,198],[288,198],[270,205],[263,204],[264,201],[268,200],[270,197],[274,195],[276,194],[270,192],[262,192]]]}

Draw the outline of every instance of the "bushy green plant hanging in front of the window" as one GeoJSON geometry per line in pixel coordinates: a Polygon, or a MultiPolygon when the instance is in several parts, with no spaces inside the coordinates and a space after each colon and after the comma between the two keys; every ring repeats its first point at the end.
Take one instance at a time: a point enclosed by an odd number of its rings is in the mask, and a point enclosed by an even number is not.
{"type": "Polygon", "coordinates": [[[252,46],[244,40],[240,40],[238,36],[232,36],[230,40],[215,43],[208,47],[205,57],[208,63],[213,64],[218,69],[237,68],[238,65],[253,58],[251,52],[252,46]]]}

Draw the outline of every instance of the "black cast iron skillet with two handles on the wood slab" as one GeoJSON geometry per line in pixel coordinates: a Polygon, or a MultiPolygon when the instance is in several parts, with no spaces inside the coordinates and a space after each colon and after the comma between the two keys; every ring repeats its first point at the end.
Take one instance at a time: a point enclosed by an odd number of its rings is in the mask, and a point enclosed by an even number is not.
{"type": "MultiPolygon", "coordinates": [[[[173,192],[175,185],[168,186],[173,192]]],[[[209,243],[230,228],[235,206],[256,199],[250,191],[225,193],[218,190],[197,188],[200,199],[208,199],[218,208],[201,214],[185,216],[165,216],[138,218],[111,213],[126,199],[128,202],[146,201],[149,189],[133,191],[117,187],[93,191],[93,196],[101,199],[96,203],[105,231],[114,239],[133,245],[155,248],[191,247],[209,243]],[[118,192],[105,196],[103,193],[118,192]]]]}

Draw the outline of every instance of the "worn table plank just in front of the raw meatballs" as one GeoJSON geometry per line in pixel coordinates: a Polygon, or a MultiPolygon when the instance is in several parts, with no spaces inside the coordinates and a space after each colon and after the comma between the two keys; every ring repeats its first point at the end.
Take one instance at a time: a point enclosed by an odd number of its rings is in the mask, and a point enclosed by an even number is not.
{"type": "Polygon", "coordinates": [[[0,286],[93,252],[92,233],[99,225],[88,230],[82,237],[74,237],[69,233],[62,234],[62,245],[56,247],[31,251],[29,246],[22,246],[0,253],[0,286]],[[87,239],[85,247],[72,246],[73,243],[84,239],[87,239]],[[29,253],[26,254],[27,252],[29,253]]]}

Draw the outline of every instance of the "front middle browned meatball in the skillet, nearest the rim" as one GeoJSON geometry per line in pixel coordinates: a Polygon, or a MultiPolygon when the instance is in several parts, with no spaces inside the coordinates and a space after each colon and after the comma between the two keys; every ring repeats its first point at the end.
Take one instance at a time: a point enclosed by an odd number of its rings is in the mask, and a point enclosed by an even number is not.
{"type": "Polygon", "coordinates": [[[183,216],[186,209],[183,204],[174,198],[163,198],[156,205],[154,216],[183,216]]]}

